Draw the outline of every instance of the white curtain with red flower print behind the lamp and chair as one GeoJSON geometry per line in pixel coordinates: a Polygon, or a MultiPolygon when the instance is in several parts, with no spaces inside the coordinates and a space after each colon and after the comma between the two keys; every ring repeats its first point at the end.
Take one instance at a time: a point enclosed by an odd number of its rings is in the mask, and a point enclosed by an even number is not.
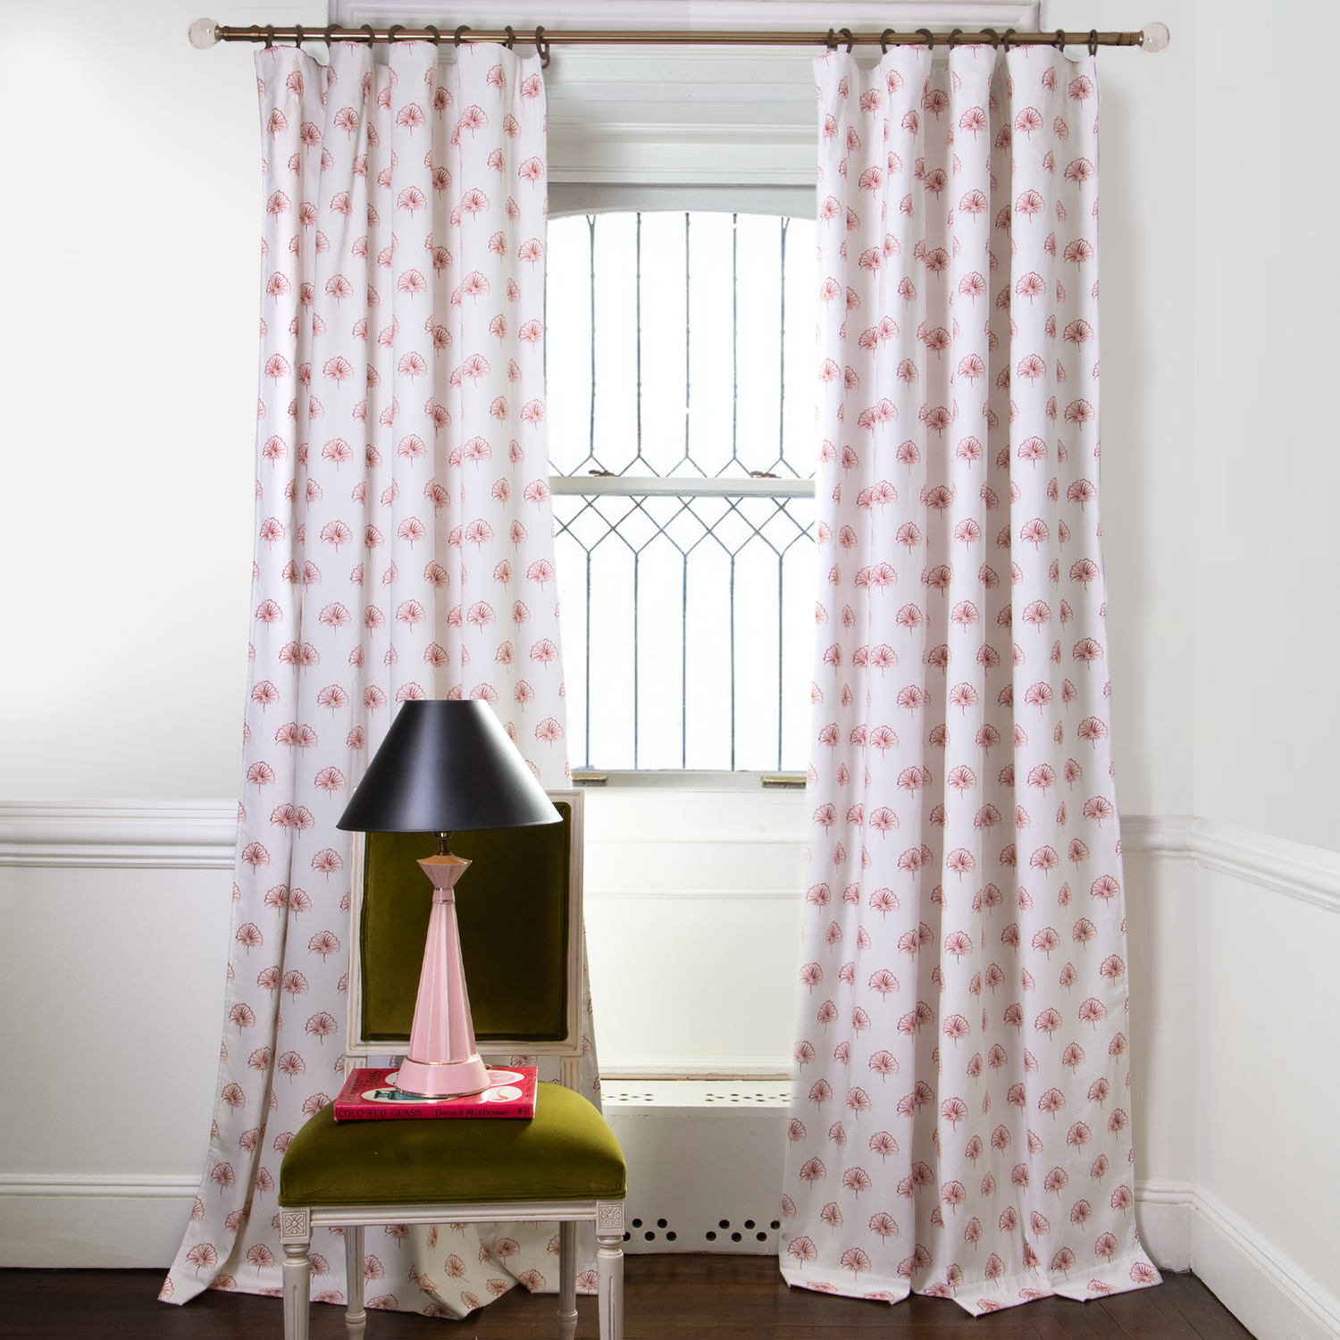
{"type": "MultiPolygon", "coordinates": [[[[177,1302],[281,1292],[279,1164],[343,1080],[351,836],[335,821],[398,704],[484,698],[545,787],[567,776],[544,83],[535,58],[456,55],[445,71],[414,42],[389,64],[352,43],[328,66],[256,56],[252,669],[214,1120],[162,1289],[177,1302]]],[[[590,1036],[583,1051],[599,1103],[590,1036]]],[[[517,1281],[557,1286],[553,1225],[371,1229],[364,1249],[373,1308],[464,1316],[517,1281]]],[[[314,1297],[343,1302],[338,1230],[316,1230],[312,1272],[314,1297]]]]}

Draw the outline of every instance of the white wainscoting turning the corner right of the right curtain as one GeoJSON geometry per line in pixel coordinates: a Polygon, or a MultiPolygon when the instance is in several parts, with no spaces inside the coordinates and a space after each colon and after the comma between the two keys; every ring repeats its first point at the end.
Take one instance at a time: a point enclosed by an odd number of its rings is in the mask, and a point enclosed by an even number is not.
{"type": "Polygon", "coordinates": [[[1122,838],[1144,1242],[1258,1340],[1335,1340],[1340,854],[1178,816],[1122,838]]]}

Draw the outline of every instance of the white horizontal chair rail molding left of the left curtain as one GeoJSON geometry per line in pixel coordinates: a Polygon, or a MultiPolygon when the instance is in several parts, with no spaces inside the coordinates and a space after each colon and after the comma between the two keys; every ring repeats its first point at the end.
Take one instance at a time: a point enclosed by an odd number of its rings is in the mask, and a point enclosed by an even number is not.
{"type": "Polygon", "coordinates": [[[0,867],[232,870],[234,800],[4,800],[0,867]]]}

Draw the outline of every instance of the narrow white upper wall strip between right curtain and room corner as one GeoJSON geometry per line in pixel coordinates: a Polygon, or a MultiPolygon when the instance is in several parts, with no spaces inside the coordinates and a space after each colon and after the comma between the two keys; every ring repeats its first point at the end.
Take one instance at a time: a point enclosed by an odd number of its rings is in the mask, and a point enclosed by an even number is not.
{"type": "MultiPolygon", "coordinates": [[[[1112,756],[1127,813],[1195,813],[1193,590],[1197,403],[1187,389],[1197,248],[1194,0],[1045,0],[1041,27],[1134,28],[1167,51],[1099,52],[1103,208],[1103,565],[1112,756]]],[[[1072,48],[1072,55],[1077,55],[1072,48]]]]}

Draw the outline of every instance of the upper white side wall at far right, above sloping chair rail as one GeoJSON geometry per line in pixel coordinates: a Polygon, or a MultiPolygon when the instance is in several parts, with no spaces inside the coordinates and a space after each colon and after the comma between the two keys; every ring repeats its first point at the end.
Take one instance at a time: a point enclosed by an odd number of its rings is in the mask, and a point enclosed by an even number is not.
{"type": "Polygon", "coordinates": [[[1198,338],[1183,360],[1197,402],[1195,813],[1337,850],[1340,24],[1333,4],[1272,4],[1270,31],[1297,35],[1285,52],[1242,39],[1258,7],[1202,9],[1198,338]]]}

